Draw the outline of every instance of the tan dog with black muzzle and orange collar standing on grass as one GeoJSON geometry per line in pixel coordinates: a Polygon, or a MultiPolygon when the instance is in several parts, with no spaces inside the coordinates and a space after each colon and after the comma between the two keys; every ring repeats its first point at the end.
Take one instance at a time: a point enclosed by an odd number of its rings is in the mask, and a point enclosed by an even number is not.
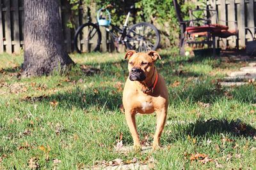
{"type": "Polygon", "coordinates": [[[136,128],[136,113],[148,114],[156,111],[157,126],[152,148],[159,148],[161,133],[168,108],[168,90],[163,77],[157,73],[154,62],[161,57],[155,51],[136,53],[129,50],[125,59],[129,59],[129,78],[123,92],[125,118],[132,134],[134,149],[141,148],[136,128]]]}

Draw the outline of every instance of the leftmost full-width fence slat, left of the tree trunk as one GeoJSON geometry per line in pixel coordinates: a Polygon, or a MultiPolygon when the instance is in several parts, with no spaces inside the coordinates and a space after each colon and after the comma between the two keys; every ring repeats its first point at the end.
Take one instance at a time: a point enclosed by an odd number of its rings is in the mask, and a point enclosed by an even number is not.
{"type": "Polygon", "coordinates": [[[10,0],[5,1],[6,13],[5,13],[5,39],[6,39],[6,52],[12,53],[12,32],[11,32],[11,10],[10,0]]]}

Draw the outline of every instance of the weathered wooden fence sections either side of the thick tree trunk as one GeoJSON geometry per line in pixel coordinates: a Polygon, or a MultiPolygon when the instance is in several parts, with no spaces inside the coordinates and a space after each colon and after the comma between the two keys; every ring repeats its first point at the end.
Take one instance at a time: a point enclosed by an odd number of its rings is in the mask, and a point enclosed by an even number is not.
{"type": "MultiPolygon", "coordinates": [[[[74,20],[75,27],[70,29],[67,27],[71,17],[71,6],[67,0],[61,0],[61,23],[63,27],[63,38],[68,52],[74,50],[74,34],[76,27],[86,22],[86,16],[83,12],[83,8],[80,7],[78,14],[72,20],[74,20]]],[[[92,15],[95,14],[95,11],[92,15]]],[[[93,18],[95,22],[95,18],[93,18]]],[[[103,52],[109,49],[109,41],[105,29],[101,29],[102,32],[102,45],[103,52]]],[[[0,53],[19,53],[23,48],[23,33],[24,33],[24,0],[0,0],[0,53]]]]}

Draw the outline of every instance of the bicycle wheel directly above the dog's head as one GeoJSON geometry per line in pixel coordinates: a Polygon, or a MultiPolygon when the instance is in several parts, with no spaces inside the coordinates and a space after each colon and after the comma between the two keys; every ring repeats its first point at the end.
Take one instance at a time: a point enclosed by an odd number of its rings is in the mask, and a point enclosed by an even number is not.
{"type": "Polygon", "coordinates": [[[160,35],[156,27],[147,22],[135,24],[127,32],[125,45],[130,50],[146,52],[156,50],[160,42],[160,35]]]}

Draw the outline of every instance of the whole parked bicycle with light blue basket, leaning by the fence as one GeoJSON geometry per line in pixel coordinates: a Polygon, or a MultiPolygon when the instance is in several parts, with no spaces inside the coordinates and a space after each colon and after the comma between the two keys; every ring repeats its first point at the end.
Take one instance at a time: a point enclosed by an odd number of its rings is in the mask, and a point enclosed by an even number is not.
{"type": "Polygon", "coordinates": [[[87,10],[88,22],[80,25],[74,37],[74,46],[77,52],[95,52],[100,50],[101,43],[101,32],[99,27],[104,26],[106,31],[109,32],[111,39],[114,42],[115,48],[118,48],[119,44],[125,45],[129,50],[136,50],[137,52],[143,52],[148,50],[156,50],[160,42],[160,35],[156,27],[147,22],[140,22],[134,24],[131,27],[127,25],[129,17],[131,15],[131,10],[134,6],[129,8],[127,17],[125,19],[122,29],[111,24],[111,16],[106,6],[106,8],[101,8],[97,13],[97,24],[92,23],[90,17],[90,8],[87,10]],[[99,16],[101,11],[107,11],[108,20],[99,16]],[[102,22],[99,22],[99,21],[102,22]],[[111,29],[109,29],[111,26],[111,29]]]}

